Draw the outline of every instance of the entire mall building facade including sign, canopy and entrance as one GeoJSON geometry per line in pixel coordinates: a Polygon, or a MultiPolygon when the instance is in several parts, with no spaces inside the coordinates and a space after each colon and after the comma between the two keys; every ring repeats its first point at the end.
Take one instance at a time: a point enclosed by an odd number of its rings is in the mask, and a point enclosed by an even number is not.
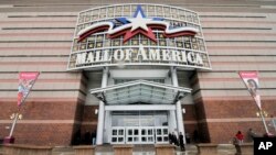
{"type": "Polygon", "coordinates": [[[276,3],[150,2],[2,1],[0,137],[20,71],[41,74],[15,143],[70,145],[77,131],[95,131],[98,145],[168,143],[169,132],[195,130],[202,143],[263,134],[237,71],[258,71],[263,110],[275,115],[276,3]]]}

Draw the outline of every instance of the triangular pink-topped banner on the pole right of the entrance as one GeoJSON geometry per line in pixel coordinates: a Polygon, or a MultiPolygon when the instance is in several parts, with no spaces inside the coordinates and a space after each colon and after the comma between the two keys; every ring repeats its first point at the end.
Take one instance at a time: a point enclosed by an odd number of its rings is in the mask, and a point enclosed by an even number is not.
{"type": "Polygon", "coordinates": [[[251,96],[254,98],[257,107],[262,110],[261,96],[258,92],[258,73],[257,71],[240,71],[238,75],[246,85],[251,96]]]}

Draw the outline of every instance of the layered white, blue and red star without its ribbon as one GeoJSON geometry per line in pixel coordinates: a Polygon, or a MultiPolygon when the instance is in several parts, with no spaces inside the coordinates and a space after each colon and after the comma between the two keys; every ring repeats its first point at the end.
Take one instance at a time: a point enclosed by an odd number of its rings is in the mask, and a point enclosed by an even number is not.
{"type": "Polygon", "coordinates": [[[150,24],[152,21],[160,21],[160,19],[146,18],[141,5],[137,5],[136,12],[132,18],[118,18],[116,20],[123,24],[131,25],[131,29],[125,32],[124,43],[137,34],[142,34],[147,36],[148,38],[150,38],[151,41],[157,42],[156,36],[152,32],[152,29],[148,26],[148,24],[150,24]]]}

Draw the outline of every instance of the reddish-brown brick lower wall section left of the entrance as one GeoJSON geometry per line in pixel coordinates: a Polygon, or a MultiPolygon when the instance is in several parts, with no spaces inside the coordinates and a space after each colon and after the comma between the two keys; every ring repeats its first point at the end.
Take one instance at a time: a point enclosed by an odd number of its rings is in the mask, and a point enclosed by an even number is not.
{"type": "MultiPolygon", "coordinates": [[[[17,110],[15,102],[0,102],[3,123],[0,125],[0,137],[9,135],[11,120],[9,115],[17,110]]],[[[31,101],[21,109],[23,119],[19,120],[13,132],[17,144],[70,145],[75,125],[76,109],[82,101],[31,101]]],[[[79,110],[78,110],[79,111],[79,110]]]]}

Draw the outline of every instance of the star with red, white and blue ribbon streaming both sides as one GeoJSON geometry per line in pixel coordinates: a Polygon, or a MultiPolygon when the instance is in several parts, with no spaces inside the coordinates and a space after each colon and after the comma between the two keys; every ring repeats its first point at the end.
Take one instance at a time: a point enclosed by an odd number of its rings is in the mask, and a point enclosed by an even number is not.
{"type": "Polygon", "coordinates": [[[177,37],[183,35],[195,35],[199,30],[192,26],[172,27],[170,23],[163,21],[161,18],[149,19],[145,15],[141,5],[137,5],[132,18],[117,18],[116,21],[120,22],[121,25],[115,26],[112,21],[94,23],[77,33],[78,42],[88,37],[89,35],[107,31],[109,38],[116,38],[124,35],[124,43],[129,41],[137,34],[142,34],[153,42],[157,42],[152,30],[163,31],[164,37],[177,37]]]}

